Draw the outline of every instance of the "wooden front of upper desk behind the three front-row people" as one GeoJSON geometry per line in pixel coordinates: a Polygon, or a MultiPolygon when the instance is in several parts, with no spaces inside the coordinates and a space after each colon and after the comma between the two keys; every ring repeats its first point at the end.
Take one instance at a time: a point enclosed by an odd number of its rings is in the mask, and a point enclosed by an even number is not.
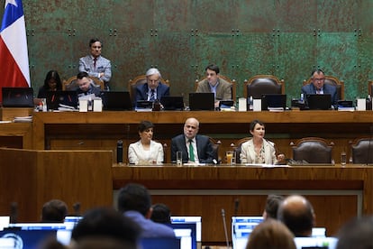
{"type": "MultiPolygon", "coordinates": [[[[341,151],[350,157],[350,140],[368,136],[373,124],[371,111],[34,113],[32,147],[39,150],[101,148],[115,152],[116,141],[123,140],[126,150],[129,143],[139,139],[137,125],[141,120],[153,122],[155,139],[169,147],[170,139],[182,133],[185,120],[191,116],[200,121],[200,134],[222,142],[222,158],[231,143],[250,136],[249,124],[253,119],[266,124],[266,137],[287,157],[292,157],[290,142],[305,136],[320,136],[335,144],[333,158],[336,162],[340,160],[341,151]]],[[[126,151],[123,155],[126,161],[126,151]]]]}

